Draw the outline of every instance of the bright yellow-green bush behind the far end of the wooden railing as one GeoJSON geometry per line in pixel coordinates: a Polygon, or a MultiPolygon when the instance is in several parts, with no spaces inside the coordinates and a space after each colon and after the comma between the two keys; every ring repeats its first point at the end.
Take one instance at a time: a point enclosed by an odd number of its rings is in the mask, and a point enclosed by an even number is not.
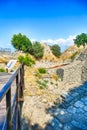
{"type": "Polygon", "coordinates": [[[19,56],[18,57],[20,63],[24,63],[27,66],[32,66],[35,64],[35,61],[28,55],[24,56],[19,56]]]}

